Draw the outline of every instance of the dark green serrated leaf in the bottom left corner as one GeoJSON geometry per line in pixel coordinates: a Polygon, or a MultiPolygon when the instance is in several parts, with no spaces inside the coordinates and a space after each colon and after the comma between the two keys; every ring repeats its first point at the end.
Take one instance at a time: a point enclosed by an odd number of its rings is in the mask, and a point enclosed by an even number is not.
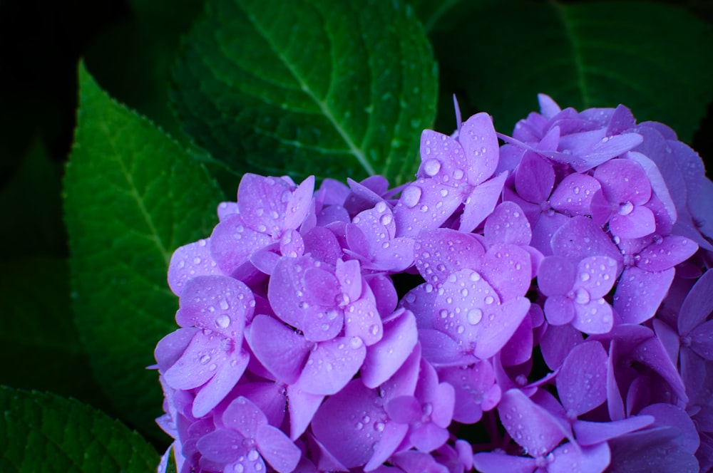
{"type": "Polygon", "coordinates": [[[155,471],[159,456],[137,432],[76,400],[0,386],[0,471],[155,471]]]}

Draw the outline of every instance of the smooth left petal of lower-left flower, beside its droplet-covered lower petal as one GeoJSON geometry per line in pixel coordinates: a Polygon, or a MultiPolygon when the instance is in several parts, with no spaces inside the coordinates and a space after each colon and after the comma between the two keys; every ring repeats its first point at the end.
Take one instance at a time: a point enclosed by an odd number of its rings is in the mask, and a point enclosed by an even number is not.
{"type": "Polygon", "coordinates": [[[275,318],[258,315],[246,333],[252,353],[265,368],[283,383],[299,378],[307,362],[310,343],[275,318]]]}

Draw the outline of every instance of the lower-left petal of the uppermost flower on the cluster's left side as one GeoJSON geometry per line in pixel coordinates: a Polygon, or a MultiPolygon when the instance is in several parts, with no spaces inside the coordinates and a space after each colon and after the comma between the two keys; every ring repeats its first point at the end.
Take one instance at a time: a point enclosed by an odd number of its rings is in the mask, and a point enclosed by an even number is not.
{"type": "Polygon", "coordinates": [[[210,235],[210,254],[225,274],[232,274],[255,251],[272,242],[270,236],[248,228],[242,215],[228,217],[210,235]]]}

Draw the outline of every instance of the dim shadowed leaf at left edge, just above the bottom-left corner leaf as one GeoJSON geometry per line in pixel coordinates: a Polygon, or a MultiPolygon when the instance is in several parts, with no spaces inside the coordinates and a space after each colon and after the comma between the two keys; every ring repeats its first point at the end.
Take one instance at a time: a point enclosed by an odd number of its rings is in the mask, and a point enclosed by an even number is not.
{"type": "Polygon", "coordinates": [[[89,360],[69,306],[69,271],[64,259],[29,256],[0,262],[11,275],[0,285],[4,301],[0,384],[53,390],[101,407],[111,407],[91,375],[89,360]]]}

